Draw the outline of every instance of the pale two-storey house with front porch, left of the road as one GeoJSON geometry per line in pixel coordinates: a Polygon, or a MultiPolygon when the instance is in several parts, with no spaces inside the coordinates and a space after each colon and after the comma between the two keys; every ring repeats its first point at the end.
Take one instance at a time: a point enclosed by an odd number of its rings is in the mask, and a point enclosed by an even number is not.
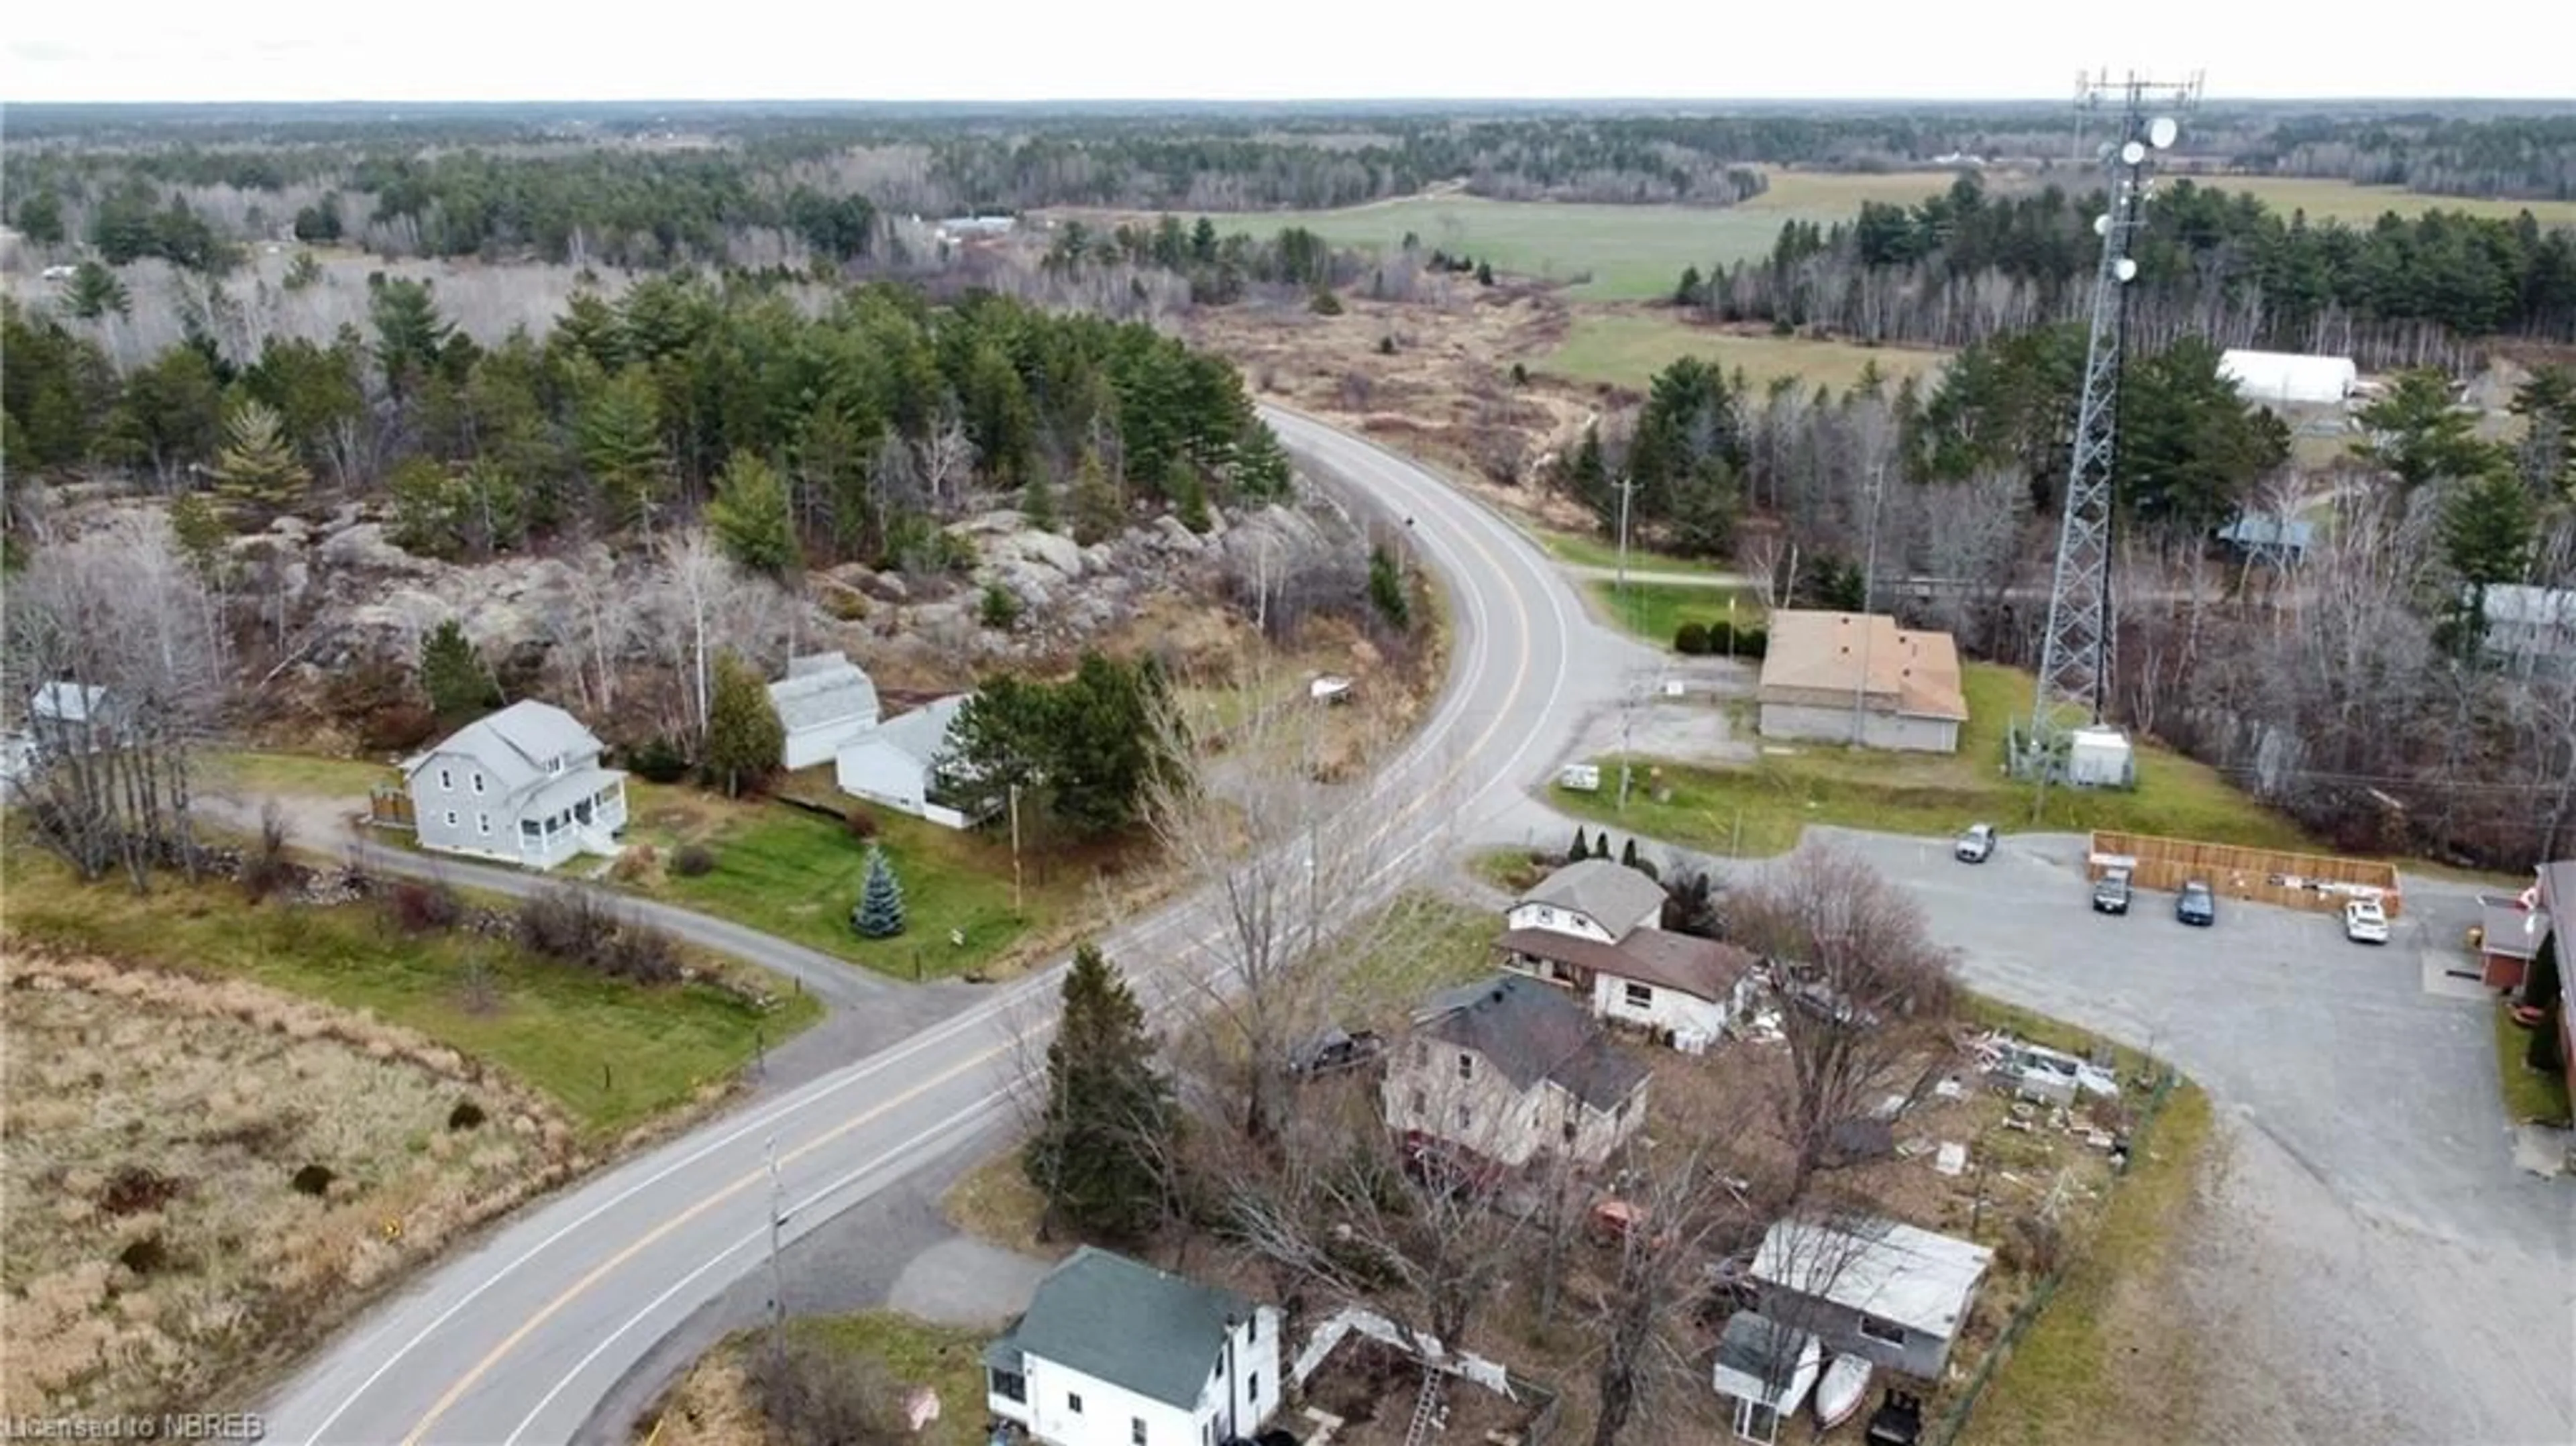
{"type": "Polygon", "coordinates": [[[600,740],[564,709],[518,701],[402,766],[420,848],[554,869],[616,856],[626,773],[600,768],[600,740]]]}

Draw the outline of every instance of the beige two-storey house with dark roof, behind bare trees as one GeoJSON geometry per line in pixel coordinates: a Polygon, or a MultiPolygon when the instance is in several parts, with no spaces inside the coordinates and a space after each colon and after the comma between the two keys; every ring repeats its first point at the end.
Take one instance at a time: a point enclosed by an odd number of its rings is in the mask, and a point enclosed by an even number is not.
{"type": "Polygon", "coordinates": [[[1386,1062],[1386,1126],[1504,1168],[1540,1152],[1600,1165],[1646,1124],[1646,1067],[1582,1005],[1520,974],[1445,990],[1386,1062]]]}

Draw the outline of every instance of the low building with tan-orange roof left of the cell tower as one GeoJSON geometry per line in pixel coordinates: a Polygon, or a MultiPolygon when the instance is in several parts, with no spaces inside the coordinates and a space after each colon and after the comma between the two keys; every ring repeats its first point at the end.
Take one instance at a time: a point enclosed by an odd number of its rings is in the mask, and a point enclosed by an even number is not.
{"type": "Polygon", "coordinates": [[[1950,634],[1901,629],[1883,613],[1772,613],[1754,696],[1762,737],[1958,753],[1968,722],[1950,634]]]}

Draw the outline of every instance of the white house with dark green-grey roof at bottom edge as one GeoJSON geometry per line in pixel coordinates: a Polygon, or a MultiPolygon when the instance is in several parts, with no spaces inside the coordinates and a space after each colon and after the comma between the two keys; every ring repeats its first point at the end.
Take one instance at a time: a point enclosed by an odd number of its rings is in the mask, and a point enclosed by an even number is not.
{"type": "Polygon", "coordinates": [[[1278,1307],[1084,1245],[984,1348],[984,1405],[1048,1446],[1218,1446],[1280,1405],[1278,1307]]]}

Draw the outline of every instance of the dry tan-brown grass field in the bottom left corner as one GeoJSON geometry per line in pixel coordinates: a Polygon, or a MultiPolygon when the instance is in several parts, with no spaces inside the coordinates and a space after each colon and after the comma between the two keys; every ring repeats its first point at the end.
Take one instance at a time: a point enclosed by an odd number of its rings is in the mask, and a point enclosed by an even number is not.
{"type": "Polygon", "coordinates": [[[459,1232],[580,1168],[541,1098],[237,979],[10,951],[0,1412],[247,1405],[459,1232]],[[471,1101],[479,1126],[451,1129],[471,1101]],[[307,1165],[330,1170],[299,1193],[307,1165]]]}

